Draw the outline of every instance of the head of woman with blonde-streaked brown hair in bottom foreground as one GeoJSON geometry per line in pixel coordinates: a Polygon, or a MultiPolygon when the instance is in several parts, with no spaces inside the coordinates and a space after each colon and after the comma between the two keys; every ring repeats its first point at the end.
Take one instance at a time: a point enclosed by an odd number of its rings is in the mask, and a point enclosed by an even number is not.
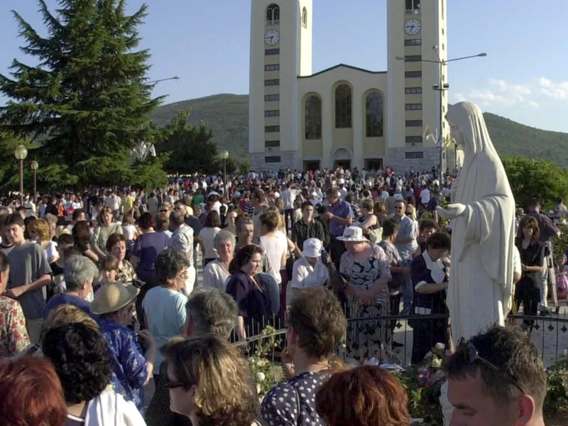
{"type": "Polygon", "coordinates": [[[219,337],[175,337],[161,349],[167,363],[170,410],[193,426],[258,425],[258,401],[249,365],[219,337]]]}

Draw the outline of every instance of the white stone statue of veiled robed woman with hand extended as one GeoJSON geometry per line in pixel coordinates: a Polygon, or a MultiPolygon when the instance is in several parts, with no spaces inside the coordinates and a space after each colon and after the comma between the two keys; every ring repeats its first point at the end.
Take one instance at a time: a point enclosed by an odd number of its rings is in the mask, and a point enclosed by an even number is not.
{"type": "Polygon", "coordinates": [[[454,342],[497,322],[504,325],[513,295],[515,200],[476,104],[460,102],[446,119],[464,165],[447,209],[452,219],[452,268],[447,305],[454,342]]]}

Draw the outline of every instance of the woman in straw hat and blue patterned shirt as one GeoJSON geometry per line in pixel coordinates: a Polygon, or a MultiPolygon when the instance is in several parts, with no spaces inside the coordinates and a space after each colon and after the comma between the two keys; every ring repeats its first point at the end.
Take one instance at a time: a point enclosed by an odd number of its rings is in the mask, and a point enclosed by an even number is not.
{"type": "Polygon", "coordinates": [[[155,342],[148,330],[134,333],[132,324],[138,289],[111,283],[101,288],[91,303],[91,312],[100,315],[99,327],[113,357],[111,383],[115,393],[133,401],[144,413],[143,388],[152,377],[155,342]],[[146,349],[143,354],[141,345],[146,349]]]}

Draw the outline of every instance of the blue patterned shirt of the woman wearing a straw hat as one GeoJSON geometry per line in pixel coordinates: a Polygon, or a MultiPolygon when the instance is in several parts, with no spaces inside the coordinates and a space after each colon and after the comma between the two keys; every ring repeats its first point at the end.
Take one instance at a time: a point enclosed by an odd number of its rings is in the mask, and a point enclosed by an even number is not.
{"type": "Polygon", "coordinates": [[[148,377],[146,359],[136,333],[109,318],[99,318],[99,327],[112,356],[111,383],[115,393],[136,404],[144,414],[144,383],[148,377]]]}

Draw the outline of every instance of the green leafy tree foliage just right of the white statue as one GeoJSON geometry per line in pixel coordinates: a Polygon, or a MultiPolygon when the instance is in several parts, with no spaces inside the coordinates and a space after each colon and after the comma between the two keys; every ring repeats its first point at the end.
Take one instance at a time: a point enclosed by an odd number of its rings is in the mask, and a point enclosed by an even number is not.
{"type": "Polygon", "coordinates": [[[526,207],[531,198],[552,209],[558,197],[568,194],[568,170],[546,160],[513,157],[503,160],[511,190],[518,206],[526,207]]]}

